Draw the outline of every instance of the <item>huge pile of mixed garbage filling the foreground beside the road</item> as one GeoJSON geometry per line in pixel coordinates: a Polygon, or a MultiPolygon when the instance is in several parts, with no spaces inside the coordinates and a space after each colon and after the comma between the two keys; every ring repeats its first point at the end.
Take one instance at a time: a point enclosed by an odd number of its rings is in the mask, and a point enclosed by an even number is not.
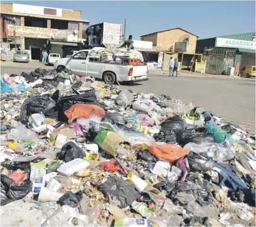
{"type": "Polygon", "coordinates": [[[255,226],[255,135],[211,111],[53,70],[1,101],[4,226],[255,226]]]}

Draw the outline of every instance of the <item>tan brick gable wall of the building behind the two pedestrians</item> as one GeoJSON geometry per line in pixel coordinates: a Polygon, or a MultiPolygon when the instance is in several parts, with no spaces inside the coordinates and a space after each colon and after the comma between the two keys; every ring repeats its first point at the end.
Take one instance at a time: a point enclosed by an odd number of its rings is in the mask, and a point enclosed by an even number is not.
{"type": "Polygon", "coordinates": [[[181,29],[173,29],[170,31],[163,31],[162,33],[158,33],[157,50],[169,51],[171,46],[173,46],[174,51],[175,43],[183,41],[185,36],[189,36],[189,43],[186,53],[195,53],[197,37],[181,29]]]}

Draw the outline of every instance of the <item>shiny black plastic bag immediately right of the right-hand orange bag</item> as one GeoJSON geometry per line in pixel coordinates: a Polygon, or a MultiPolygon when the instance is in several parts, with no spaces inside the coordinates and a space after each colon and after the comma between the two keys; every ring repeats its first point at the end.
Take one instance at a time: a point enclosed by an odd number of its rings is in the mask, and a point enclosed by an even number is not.
{"type": "Polygon", "coordinates": [[[188,153],[188,163],[191,170],[194,171],[209,171],[213,168],[213,159],[201,156],[195,152],[188,153]]]}

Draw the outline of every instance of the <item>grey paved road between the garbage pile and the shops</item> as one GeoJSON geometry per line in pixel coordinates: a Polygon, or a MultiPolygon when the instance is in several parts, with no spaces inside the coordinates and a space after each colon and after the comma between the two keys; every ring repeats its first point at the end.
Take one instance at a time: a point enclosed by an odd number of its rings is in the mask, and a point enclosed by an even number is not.
{"type": "MultiPolygon", "coordinates": [[[[20,74],[32,68],[1,67],[1,73],[20,74]]],[[[166,94],[184,102],[213,110],[230,122],[249,127],[255,131],[255,80],[201,77],[168,77],[149,75],[149,81],[122,88],[134,92],[166,94]]]]}

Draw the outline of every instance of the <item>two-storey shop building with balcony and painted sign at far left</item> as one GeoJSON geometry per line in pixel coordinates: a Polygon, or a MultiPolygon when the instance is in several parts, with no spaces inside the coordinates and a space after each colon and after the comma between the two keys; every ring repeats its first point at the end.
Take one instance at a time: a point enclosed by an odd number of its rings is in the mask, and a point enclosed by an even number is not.
{"type": "Polygon", "coordinates": [[[1,48],[13,60],[16,50],[26,50],[32,60],[41,60],[45,49],[66,56],[84,48],[87,20],[82,11],[1,3],[1,48]]]}

